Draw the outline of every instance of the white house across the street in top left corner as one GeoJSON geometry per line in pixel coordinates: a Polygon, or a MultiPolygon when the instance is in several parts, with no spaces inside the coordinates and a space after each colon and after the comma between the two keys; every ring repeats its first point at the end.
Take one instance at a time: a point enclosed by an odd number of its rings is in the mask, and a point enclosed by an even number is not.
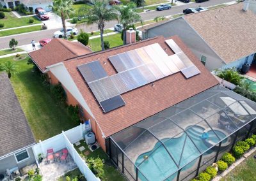
{"type": "Polygon", "coordinates": [[[27,8],[32,8],[34,13],[36,8],[44,8],[45,11],[51,11],[52,0],[0,0],[0,3],[6,8],[14,8],[19,4],[24,4],[27,8]]]}

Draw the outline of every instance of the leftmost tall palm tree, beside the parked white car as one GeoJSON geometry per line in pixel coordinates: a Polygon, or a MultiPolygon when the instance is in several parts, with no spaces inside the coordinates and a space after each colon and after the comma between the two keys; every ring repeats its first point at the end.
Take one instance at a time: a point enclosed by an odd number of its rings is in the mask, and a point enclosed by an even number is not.
{"type": "Polygon", "coordinates": [[[67,40],[67,29],[65,19],[68,18],[70,13],[74,13],[72,8],[73,0],[54,0],[52,10],[61,17],[61,22],[64,31],[64,38],[67,40]]]}

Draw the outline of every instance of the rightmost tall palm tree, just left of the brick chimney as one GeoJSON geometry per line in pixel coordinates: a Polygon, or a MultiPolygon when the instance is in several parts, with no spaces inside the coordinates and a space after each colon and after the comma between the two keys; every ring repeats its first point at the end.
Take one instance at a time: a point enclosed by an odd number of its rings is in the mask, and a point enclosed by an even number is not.
{"type": "Polygon", "coordinates": [[[136,4],[128,3],[126,6],[115,6],[118,11],[118,21],[124,27],[123,41],[126,43],[126,30],[129,24],[141,21],[140,15],[135,11],[136,4]]]}

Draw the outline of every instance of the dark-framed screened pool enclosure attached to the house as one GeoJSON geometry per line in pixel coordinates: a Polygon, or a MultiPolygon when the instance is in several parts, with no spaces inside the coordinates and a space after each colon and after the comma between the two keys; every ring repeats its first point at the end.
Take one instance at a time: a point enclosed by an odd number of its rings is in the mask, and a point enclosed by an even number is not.
{"type": "Polygon", "coordinates": [[[256,130],[256,103],[216,85],[108,138],[128,180],[190,180],[256,130]]]}

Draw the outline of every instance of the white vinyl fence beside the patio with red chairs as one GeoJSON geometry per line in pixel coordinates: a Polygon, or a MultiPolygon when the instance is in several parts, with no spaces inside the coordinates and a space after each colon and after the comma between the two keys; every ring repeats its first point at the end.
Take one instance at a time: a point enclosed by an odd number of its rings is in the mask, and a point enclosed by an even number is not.
{"type": "Polygon", "coordinates": [[[77,164],[77,167],[83,173],[84,177],[89,181],[99,181],[90,168],[88,168],[85,161],[79,156],[76,149],[74,148],[73,143],[76,143],[79,140],[83,139],[84,124],[80,124],[77,127],[69,129],[68,131],[62,131],[61,134],[53,136],[44,141],[39,141],[36,145],[33,145],[33,152],[38,158],[38,154],[43,154],[44,157],[47,155],[47,149],[53,148],[54,150],[61,150],[67,148],[70,156],[72,156],[74,162],[77,164]]]}

